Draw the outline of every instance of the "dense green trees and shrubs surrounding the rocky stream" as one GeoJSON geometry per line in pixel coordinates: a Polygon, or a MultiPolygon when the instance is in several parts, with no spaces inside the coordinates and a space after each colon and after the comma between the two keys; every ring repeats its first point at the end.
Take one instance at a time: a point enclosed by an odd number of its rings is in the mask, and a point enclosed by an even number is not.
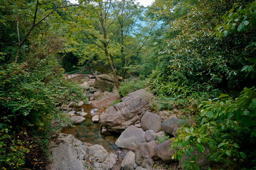
{"type": "Polygon", "coordinates": [[[1,169],[44,168],[39,154],[68,121],[59,106],[83,98],[63,73],[96,67],[117,87],[122,76],[121,96],[150,89],[153,110],[197,122],[173,139],[184,169],[206,146],[213,165],[256,166],[255,0],[78,3],[0,0],[1,169]]]}

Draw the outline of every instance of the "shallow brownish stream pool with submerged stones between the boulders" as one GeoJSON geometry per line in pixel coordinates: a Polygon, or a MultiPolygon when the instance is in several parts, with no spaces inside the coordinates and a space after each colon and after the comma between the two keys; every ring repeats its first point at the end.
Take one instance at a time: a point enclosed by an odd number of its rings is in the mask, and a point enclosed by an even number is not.
{"type": "Polygon", "coordinates": [[[74,108],[76,111],[81,111],[88,114],[84,117],[85,121],[79,124],[75,124],[73,127],[65,127],[62,129],[62,133],[72,134],[75,138],[81,140],[82,142],[90,144],[100,144],[108,151],[119,150],[115,145],[119,134],[112,134],[111,136],[106,136],[101,134],[101,127],[98,123],[93,123],[91,118],[94,115],[100,115],[104,110],[98,110],[93,108],[90,104],[84,105],[79,108],[74,108]]]}

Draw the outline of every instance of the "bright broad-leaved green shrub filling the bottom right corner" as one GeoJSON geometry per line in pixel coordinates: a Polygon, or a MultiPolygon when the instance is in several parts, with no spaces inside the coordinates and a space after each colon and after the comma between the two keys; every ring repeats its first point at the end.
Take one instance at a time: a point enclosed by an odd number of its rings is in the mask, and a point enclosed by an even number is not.
{"type": "MultiPolygon", "coordinates": [[[[209,159],[213,161],[233,164],[235,160],[248,159],[255,166],[255,87],[245,88],[236,99],[221,94],[219,98],[202,102],[200,108],[200,125],[180,128],[178,137],[173,140],[171,149],[179,148],[174,157],[181,159],[183,153],[190,157],[195,145],[203,153],[203,144],[207,143],[211,151],[209,159]]],[[[183,164],[183,168],[191,169],[196,159],[193,156],[183,164]]]]}

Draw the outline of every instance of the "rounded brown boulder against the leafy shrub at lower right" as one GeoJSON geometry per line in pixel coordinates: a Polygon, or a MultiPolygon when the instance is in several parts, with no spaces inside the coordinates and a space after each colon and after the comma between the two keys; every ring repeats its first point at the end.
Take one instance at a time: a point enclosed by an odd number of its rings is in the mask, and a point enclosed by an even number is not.
{"type": "Polygon", "coordinates": [[[172,143],[173,142],[168,139],[161,144],[157,144],[154,148],[156,155],[164,162],[174,161],[174,159],[172,158],[172,154],[175,153],[175,150],[173,149],[170,151],[170,146],[172,145],[172,143]]]}

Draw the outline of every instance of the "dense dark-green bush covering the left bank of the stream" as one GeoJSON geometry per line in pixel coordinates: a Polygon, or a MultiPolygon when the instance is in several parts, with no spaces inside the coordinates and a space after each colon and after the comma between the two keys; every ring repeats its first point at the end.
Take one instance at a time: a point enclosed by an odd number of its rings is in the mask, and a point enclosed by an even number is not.
{"type": "Polygon", "coordinates": [[[6,169],[18,169],[24,165],[24,160],[33,161],[31,155],[27,155],[29,146],[27,150],[18,144],[22,139],[15,134],[20,134],[24,131],[22,129],[29,132],[29,140],[34,141],[40,151],[47,151],[50,135],[69,121],[56,106],[74,99],[83,99],[82,87],[65,80],[63,69],[54,57],[48,56],[30,64],[0,65],[0,136],[3,136],[0,138],[3,149],[0,150],[0,165],[5,165],[6,169]],[[16,146],[19,150],[15,149],[16,146]]]}

